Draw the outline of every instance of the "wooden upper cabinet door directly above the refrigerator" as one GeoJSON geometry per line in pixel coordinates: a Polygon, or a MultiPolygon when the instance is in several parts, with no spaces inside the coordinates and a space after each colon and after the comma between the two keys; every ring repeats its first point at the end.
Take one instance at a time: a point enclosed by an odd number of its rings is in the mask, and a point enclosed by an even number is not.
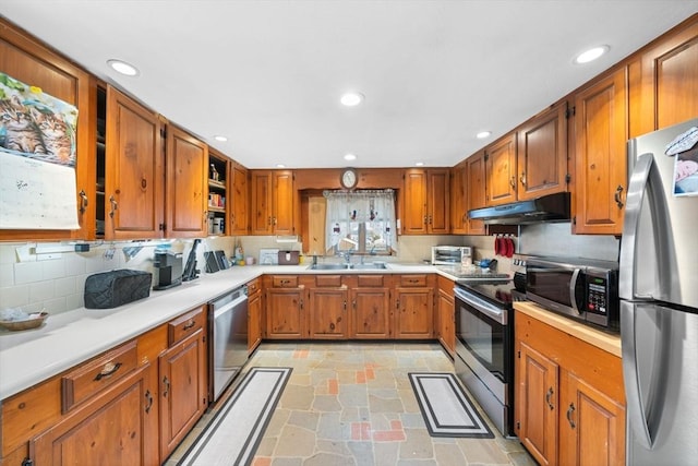
{"type": "Polygon", "coordinates": [[[698,115],[698,23],[686,25],[641,56],[641,94],[631,116],[640,135],[698,115]]]}

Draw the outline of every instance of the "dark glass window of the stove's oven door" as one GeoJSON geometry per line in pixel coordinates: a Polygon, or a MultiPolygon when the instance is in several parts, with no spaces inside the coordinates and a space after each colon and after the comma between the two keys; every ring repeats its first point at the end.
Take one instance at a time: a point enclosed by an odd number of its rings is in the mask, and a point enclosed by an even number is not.
{"type": "Polygon", "coordinates": [[[456,337],[466,349],[501,381],[505,381],[506,326],[456,299],[456,337]]]}

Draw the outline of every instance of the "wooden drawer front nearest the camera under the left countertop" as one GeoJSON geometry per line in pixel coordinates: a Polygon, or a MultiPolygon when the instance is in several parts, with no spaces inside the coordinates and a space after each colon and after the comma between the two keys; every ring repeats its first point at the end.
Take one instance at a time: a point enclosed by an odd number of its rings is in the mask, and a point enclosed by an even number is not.
{"type": "Polygon", "coordinates": [[[63,375],[63,413],[112,385],[134,371],[137,366],[137,348],[133,340],[63,375]]]}

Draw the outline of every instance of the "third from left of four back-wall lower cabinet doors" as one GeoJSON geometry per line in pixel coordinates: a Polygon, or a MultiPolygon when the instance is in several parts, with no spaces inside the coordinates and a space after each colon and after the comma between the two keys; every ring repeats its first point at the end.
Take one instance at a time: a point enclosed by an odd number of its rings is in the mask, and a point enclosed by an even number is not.
{"type": "Polygon", "coordinates": [[[390,291],[388,288],[351,290],[351,338],[390,337],[390,291]]]}

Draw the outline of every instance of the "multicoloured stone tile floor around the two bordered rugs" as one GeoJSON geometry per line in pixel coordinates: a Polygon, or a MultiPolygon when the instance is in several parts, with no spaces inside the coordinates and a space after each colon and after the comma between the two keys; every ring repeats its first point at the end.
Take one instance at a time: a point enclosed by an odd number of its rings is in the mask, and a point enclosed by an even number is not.
{"type": "MultiPolygon", "coordinates": [[[[535,465],[517,439],[503,438],[491,423],[494,439],[429,435],[407,374],[453,372],[436,343],[264,343],[245,369],[251,367],[293,368],[253,466],[535,465]]],[[[215,411],[167,466],[177,464],[215,411]]]]}

